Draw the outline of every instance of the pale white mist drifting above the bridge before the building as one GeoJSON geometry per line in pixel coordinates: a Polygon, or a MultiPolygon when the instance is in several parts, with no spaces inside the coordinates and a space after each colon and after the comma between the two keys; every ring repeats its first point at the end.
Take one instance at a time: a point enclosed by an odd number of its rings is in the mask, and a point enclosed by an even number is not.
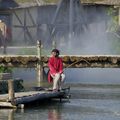
{"type": "Polygon", "coordinates": [[[106,31],[112,17],[108,15],[107,9],[102,6],[87,8],[74,2],[72,10],[69,10],[69,4],[67,1],[61,6],[56,18],[53,40],[57,42],[57,48],[63,54],[111,54],[112,46],[106,31]],[[66,11],[64,16],[63,11],[66,11]]]}

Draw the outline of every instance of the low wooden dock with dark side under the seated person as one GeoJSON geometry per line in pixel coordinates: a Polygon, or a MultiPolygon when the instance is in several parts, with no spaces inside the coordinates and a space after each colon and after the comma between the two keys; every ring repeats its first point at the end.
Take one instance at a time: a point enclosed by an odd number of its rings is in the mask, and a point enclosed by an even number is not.
{"type": "Polygon", "coordinates": [[[66,88],[62,91],[50,91],[50,90],[40,90],[40,91],[28,91],[15,93],[13,101],[9,100],[8,94],[0,95],[0,107],[7,108],[17,108],[21,104],[29,104],[35,101],[41,101],[53,98],[64,98],[69,89],[66,88]],[[66,91],[67,90],[67,91],[66,91]]]}

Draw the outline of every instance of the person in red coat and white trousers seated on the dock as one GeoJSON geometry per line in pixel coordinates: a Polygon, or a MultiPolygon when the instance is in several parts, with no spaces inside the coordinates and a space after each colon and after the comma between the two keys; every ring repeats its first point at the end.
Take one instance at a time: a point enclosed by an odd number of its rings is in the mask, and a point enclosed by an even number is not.
{"type": "Polygon", "coordinates": [[[48,61],[48,81],[53,82],[53,91],[61,90],[65,75],[63,73],[63,62],[59,57],[59,50],[53,49],[48,61]]]}

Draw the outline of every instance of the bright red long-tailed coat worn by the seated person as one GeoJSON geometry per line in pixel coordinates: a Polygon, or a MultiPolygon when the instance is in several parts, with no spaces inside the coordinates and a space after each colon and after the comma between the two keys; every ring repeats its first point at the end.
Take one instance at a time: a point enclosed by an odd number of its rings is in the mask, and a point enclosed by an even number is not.
{"type": "Polygon", "coordinates": [[[51,75],[55,75],[56,73],[63,72],[63,62],[59,57],[50,57],[48,61],[49,73],[48,73],[48,81],[52,82],[51,75]]]}

